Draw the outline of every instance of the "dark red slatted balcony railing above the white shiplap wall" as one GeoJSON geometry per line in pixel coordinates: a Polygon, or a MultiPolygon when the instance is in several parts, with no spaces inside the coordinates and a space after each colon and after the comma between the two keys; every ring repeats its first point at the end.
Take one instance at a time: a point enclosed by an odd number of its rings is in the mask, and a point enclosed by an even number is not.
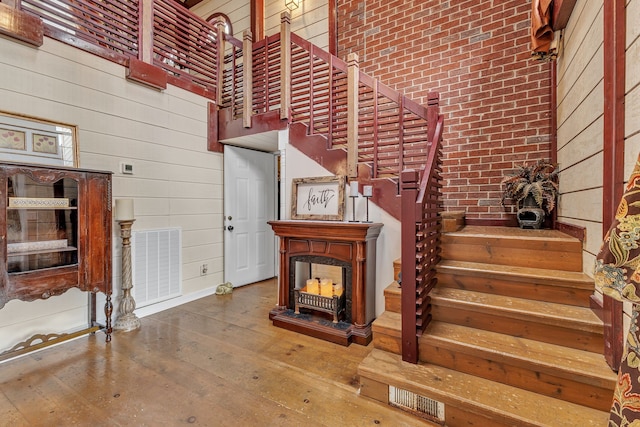
{"type": "Polygon", "coordinates": [[[213,98],[218,29],[173,0],[24,0],[44,34],[127,66],[155,65],[171,83],[213,98]]]}

